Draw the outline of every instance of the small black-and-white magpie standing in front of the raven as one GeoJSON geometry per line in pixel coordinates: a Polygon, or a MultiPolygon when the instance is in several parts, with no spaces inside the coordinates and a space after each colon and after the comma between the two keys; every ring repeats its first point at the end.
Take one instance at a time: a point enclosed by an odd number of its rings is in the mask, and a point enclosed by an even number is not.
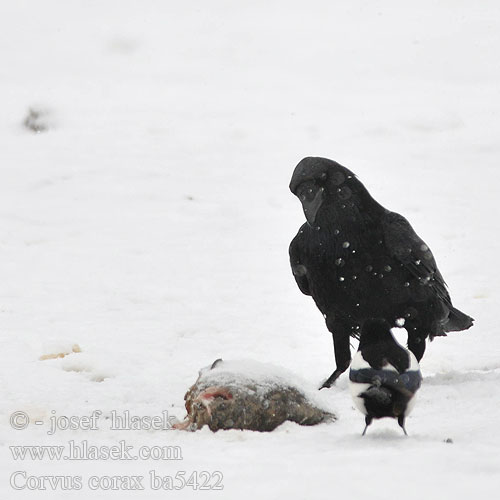
{"type": "Polygon", "coordinates": [[[374,418],[397,418],[406,434],[405,418],[422,383],[417,358],[398,344],[385,319],[368,319],[349,372],[349,388],[365,415],[365,430],[374,418]]]}

